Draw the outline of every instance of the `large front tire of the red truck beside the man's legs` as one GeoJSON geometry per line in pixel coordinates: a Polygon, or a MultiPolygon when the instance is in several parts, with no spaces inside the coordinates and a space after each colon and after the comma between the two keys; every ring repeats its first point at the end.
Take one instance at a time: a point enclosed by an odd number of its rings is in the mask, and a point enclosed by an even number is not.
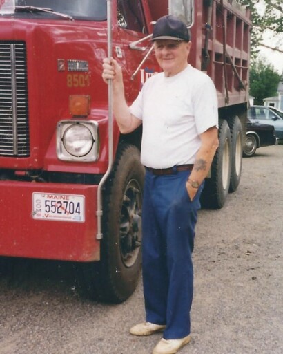
{"type": "Polygon", "coordinates": [[[120,145],[104,193],[101,260],[82,265],[84,292],[90,299],[121,303],[137,287],[142,265],[143,185],[139,150],[120,145]]]}

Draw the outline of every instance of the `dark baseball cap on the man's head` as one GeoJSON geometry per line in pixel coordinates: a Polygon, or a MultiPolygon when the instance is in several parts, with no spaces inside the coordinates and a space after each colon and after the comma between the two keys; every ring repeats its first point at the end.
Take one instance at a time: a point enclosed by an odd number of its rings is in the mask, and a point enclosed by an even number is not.
{"type": "Polygon", "coordinates": [[[152,41],[157,39],[190,41],[190,34],[183,21],[172,15],[166,15],[158,19],[153,27],[152,41]]]}

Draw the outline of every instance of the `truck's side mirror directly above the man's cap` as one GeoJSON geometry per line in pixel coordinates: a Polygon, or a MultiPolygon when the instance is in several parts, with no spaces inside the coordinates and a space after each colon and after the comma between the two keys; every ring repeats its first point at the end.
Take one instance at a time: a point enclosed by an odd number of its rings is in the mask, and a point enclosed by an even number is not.
{"type": "Polygon", "coordinates": [[[193,26],[194,3],[192,0],[169,0],[169,14],[183,21],[188,28],[193,26]]]}

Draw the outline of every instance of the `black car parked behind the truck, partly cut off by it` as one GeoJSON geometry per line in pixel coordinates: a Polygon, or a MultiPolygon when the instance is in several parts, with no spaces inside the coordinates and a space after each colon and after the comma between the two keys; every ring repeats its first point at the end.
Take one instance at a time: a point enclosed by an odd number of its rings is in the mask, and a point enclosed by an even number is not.
{"type": "Polygon", "coordinates": [[[246,142],[243,148],[243,156],[250,158],[259,147],[277,145],[278,138],[275,136],[273,125],[247,122],[246,142]]]}

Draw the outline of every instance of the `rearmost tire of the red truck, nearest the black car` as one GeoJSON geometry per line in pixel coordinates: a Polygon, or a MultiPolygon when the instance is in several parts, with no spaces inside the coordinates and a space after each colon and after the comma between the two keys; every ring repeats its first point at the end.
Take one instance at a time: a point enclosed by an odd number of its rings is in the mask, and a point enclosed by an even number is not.
{"type": "Polygon", "coordinates": [[[233,193],[240,183],[242,173],[243,129],[237,116],[229,120],[228,125],[231,131],[231,178],[229,192],[233,193]]]}

